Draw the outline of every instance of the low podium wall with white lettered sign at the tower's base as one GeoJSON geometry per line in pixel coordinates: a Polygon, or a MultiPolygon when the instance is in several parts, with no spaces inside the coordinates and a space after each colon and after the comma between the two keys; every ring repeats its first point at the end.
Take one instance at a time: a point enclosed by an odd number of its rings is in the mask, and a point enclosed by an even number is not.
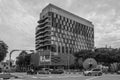
{"type": "Polygon", "coordinates": [[[49,51],[41,51],[33,54],[32,62],[34,66],[44,66],[44,65],[72,65],[74,64],[74,56],[72,54],[59,54],[54,55],[49,51]]]}

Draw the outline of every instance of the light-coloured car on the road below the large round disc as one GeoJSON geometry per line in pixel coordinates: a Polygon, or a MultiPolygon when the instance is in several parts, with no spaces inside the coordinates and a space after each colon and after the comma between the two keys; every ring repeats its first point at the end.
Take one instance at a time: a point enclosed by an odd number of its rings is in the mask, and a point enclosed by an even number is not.
{"type": "Polygon", "coordinates": [[[88,71],[83,71],[83,75],[85,76],[102,76],[102,74],[102,70],[97,68],[88,71]]]}

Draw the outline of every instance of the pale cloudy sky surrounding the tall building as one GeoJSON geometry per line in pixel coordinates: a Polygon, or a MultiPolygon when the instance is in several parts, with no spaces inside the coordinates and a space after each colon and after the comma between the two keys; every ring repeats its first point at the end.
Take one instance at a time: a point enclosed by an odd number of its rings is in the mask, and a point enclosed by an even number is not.
{"type": "Polygon", "coordinates": [[[95,47],[120,47],[120,0],[0,0],[0,40],[9,52],[35,49],[37,21],[49,3],[91,21],[95,47]]]}

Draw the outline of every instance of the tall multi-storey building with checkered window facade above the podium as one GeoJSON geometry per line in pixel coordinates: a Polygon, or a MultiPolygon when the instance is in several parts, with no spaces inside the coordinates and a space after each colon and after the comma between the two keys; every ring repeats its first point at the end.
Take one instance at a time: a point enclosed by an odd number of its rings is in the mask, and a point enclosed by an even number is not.
{"type": "Polygon", "coordinates": [[[92,22],[53,4],[49,4],[42,10],[38,23],[36,51],[42,51],[39,54],[47,54],[45,51],[48,51],[52,53],[50,55],[67,55],[94,48],[92,22]]]}

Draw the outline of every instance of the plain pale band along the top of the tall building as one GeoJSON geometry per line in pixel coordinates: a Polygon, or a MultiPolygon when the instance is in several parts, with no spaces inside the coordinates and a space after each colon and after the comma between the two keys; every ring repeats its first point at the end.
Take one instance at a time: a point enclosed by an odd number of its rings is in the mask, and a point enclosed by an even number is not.
{"type": "Polygon", "coordinates": [[[56,14],[59,14],[61,16],[65,16],[69,19],[72,19],[72,20],[75,20],[76,22],[80,22],[82,24],[86,24],[87,26],[89,27],[94,27],[94,25],[92,24],[92,22],[82,18],[82,17],[79,17],[73,13],[70,13],[64,9],[61,9],[53,4],[49,4],[48,6],[46,6],[43,10],[42,10],[42,13],[41,13],[41,17],[48,13],[48,12],[53,12],[53,13],[56,13],[56,14]]]}

